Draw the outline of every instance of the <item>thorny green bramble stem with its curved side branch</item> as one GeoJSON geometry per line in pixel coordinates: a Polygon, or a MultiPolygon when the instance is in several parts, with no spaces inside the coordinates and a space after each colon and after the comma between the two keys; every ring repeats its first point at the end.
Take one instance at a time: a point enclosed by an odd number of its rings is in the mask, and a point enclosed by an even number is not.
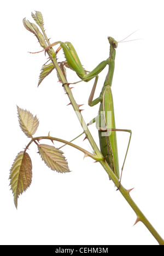
{"type": "MultiPolygon", "coordinates": [[[[45,37],[46,41],[49,44],[49,40],[46,37],[45,31],[43,33],[44,33],[44,37],[45,37]]],[[[94,141],[94,139],[93,139],[93,137],[92,137],[92,135],[91,135],[87,125],[85,124],[85,121],[84,121],[84,119],[83,119],[83,117],[82,117],[82,115],[80,113],[79,106],[78,106],[78,104],[74,100],[74,97],[72,95],[72,91],[69,88],[69,84],[68,84],[68,82],[67,82],[67,80],[65,78],[65,75],[63,75],[63,73],[61,71],[61,68],[58,65],[57,61],[56,61],[56,56],[55,56],[54,50],[52,48],[50,48],[47,51],[47,53],[48,53],[52,63],[54,64],[54,67],[56,68],[56,71],[57,71],[57,73],[58,73],[58,75],[60,77],[60,80],[61,80],[61,82],[63,84],[63,87],[66,90],[66,94],[68,95],[69,100],[70,100],[70,102],[71,102],[71,104],[73,106],[73,109],[75,110],[75,113],[77,114],[77,117],[78,117],[78,119],[80,121],[81,126],[83,127],[83,130],[85,132],[86,138],[90,142],[90,144],[91,144],[91,146],[92,146],[92,148],[93,148],[93,150],[95,152],[95,155],[93,155],[93,154],[91,154],[89,152],[87,152],[87,155],[89,155],[93,159],[96,159],[96,161],[98,161],[103,166],[104,170],[106,170],[106,172],[108,173],[109,177],[112,179],[112,181],[114,182],[114,184],[118,188],[119,185],[120,185],[119,179],[115,176],[115,174],[113,173],[112,169],[109,167],[107,162],[104,160],[102,153],[100,152],[99,148],[97,147],[96,142],[94,141]]],[[[86,154],[86,150],[85,149],[82,149],[82,148],[80,148],[78,146],[75,146],[71,142],[67,142],[67,141],[64,141],[62,139],[58,139],[58,138],[51,137],[51,136],[43,136],[43,137],[32,138],[30,143],[28,143],[25,151],[27,150],[27,148],[30,146],[30,144],[33,141],[36,142],[36,140],[39,141],[40,139],[51,139],[51,141],[53,141],[53,140],[60,141],[60,142],[66,143],[66,144],[68,144],[68,145],[70,145],[70,146],[72,146],[74,148],[77,148],[77,149],[81,150],[83,153],[86,154]]],[[[129,194],[130,190],[126,190],[122,185],[120,185],[119,191],[122,194],[122,196],[124,196],[124,198],[126,199],[128,204],[132,207],[133,211],[136,213],[136,215],[137,215],[136,223],[138,221],[142,222],[148,228],[148,230],[151,232],[151,234],[155,237],[157,242],[159,242],[160,245],[164,245],[164,240],[162,239],[162,237],[157,233],[157,231],[153,228],[153,226],[150,224],[150,222],[147,220],[147,218],[144,216],[144,214],[139,210],[139,208],[136,205],[136,203],[134,203],[134,201],[132,200],[132,198],[131,198],[131,196],[129,194]]]]}

